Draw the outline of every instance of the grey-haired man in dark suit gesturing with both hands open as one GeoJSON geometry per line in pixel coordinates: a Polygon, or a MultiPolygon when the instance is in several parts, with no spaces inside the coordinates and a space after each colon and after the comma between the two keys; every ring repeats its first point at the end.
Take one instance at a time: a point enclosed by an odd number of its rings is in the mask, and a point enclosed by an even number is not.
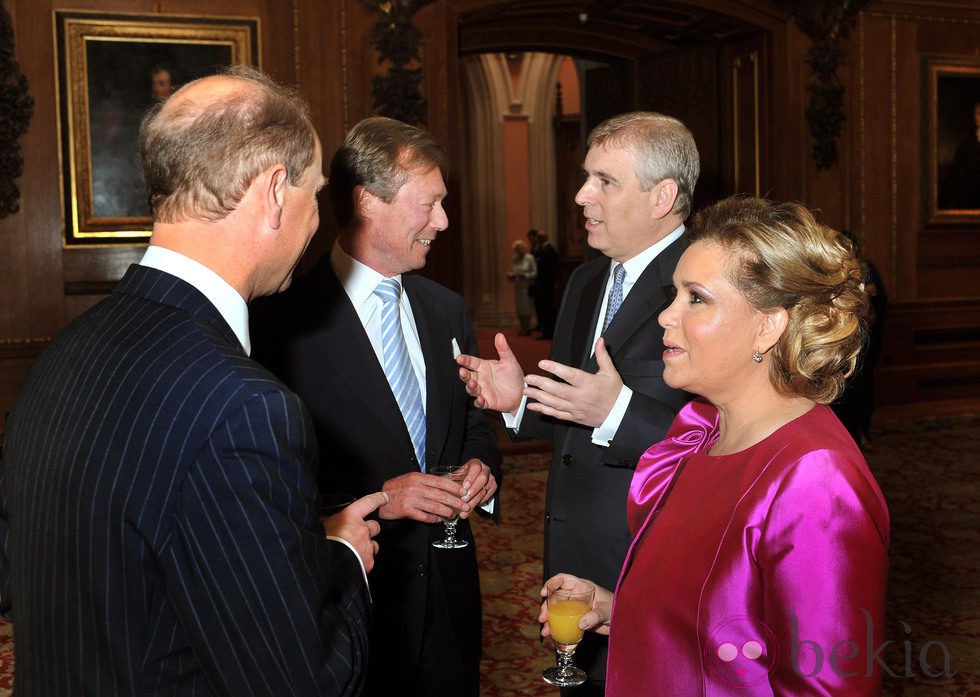
{"type": "MultiPolygon", "coordinates": [[[[588,146],[575,202],[589,246],[603,256],[568,281],[551,360],[539,364],[553,378],[525,376],[502,334],[494,339],[499,360],[461,356],[459,374],[476,403],[503,412],[518,436],[554,440],[545,578],[581,573],[615,588],[630,543],[633,470],[689,397],[663,381],[657,318],[673,298],[700,163],[684,124],[652,112],[604,121],[588,146]]],[[[606,646],[606,637],[587,633],[576,662],[589,682],[563,694],[603,694],[606,646]]]]}

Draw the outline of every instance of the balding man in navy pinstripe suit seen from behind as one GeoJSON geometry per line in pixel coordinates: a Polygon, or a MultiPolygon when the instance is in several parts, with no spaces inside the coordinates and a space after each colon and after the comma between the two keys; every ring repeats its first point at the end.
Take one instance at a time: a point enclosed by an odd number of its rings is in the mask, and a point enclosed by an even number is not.
{"type": "Polygon", "coordinates": [[[246,303],[289,285],[319,223],[308,107],[231,69],[156,105],[140,145],[150,246],[10,414],[17,694],[358,694],[378,532],[363,518],[388,497],[321,522],[309,416],[248,356],[246,303]]]}

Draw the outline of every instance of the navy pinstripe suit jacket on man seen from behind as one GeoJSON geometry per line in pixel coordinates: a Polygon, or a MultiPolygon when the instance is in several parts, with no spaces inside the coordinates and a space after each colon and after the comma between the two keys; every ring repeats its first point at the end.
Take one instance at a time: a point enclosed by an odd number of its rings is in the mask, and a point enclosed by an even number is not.
{"type": "Polygon", "coordinates": [[[38,358],[3,456],[19,696],[359,691],[309,416],[192,286],[131,267],[38,358]]]}

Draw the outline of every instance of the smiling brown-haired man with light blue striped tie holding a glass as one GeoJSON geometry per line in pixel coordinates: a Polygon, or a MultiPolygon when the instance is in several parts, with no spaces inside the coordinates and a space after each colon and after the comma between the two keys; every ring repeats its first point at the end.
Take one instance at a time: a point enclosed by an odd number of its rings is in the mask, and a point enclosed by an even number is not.
{"type": "Polygon", "coordinates": [[[371,574],[372,696],[476,697],[480,688],[480,586],[466,519],[496,503],[500,455],[456,376],[456,355],[477,349],[463,299],[408,273],[449,225],[443,160],[414,126],[381,117],[355,125],[330,166],[333,249],[254,308],[256,357],[309,404],[323,491],[391,498],[371,574]],[[400,327],[394,344],[386,319],[400,327]],[[409,356],[400,379],[385,369],[393,345],[409,356]],[[416,406],[403,411],[405,384],[416,406]],[[439,465],[465,467],[463,486],[431,474],[439,465]],[[435,549],[451,509],[469,546],[435,549]]]}

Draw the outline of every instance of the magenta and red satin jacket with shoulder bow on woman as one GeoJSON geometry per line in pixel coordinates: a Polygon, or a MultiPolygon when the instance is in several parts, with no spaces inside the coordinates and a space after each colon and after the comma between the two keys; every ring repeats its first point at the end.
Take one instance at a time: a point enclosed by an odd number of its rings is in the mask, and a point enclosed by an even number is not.
{"type": "Polygon", "coordinates": [[[695,400],[640,459],[607,697],[881,690],[888,509],[824,406],[732,455],[695,400]]]}

